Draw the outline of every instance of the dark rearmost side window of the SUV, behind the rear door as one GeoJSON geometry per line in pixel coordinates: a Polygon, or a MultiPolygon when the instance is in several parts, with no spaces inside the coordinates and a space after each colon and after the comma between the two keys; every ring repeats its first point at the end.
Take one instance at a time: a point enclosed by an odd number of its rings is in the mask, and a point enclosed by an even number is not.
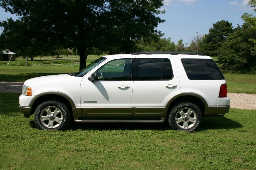
{"type": "Polygon", "coordinates": [[[224,76],[212,59],[181,59],[190,80],[222,80],[224,76]]]}

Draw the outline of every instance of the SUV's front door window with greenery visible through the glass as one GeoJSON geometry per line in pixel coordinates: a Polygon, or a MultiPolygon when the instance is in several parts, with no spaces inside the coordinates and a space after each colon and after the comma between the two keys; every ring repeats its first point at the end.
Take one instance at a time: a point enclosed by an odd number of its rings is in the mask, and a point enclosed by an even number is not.
{"type": "Polygon", "coordinates": [[[97,70],[99,80],[129,80],[132,59],[115,59],[97,70]]]}

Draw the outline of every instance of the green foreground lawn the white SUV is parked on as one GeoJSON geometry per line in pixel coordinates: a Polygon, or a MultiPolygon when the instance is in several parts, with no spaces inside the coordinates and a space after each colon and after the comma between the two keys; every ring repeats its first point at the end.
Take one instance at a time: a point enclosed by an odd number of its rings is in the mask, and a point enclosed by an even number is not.
{"type": "Polygon", "coordinates": [[[0,94],[0,169],[256,169],[255,111],[204,118],[196,132],[164,124],[74,123],[36,128],[18,94],[0,94]]]}

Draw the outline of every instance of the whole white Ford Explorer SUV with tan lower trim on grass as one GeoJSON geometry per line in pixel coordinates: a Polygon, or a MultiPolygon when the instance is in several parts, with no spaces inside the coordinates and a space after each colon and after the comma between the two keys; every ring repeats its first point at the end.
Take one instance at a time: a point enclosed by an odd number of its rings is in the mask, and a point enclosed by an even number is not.
{"type": "Polygon", "coordinates": [[[167,121],[193,131],[202,116],[228,113],[223,74],[200,53],[137,52],[101,57],[74,74],[25,81],[19,98],[25,117],[47,130],[75,122],[167,121]],[[193,54],[193,55],[192,55],[193,54]],[[197,55],[194,55],[197,54],[197,55]]]}

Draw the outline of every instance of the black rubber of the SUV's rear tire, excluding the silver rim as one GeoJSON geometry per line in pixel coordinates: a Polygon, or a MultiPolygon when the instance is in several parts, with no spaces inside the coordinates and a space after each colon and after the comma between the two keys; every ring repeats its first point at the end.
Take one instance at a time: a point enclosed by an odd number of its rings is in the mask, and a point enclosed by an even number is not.
{"type": "Polygon", "coordinates": [[[170,111],[169,117],[168,117],[168,123],[170,125],[170,127],[173,130],[182,130],[182,131],[186,131],[186,132],[192,132],[194,130],[196,130],[196,128],[198,128],[198,126],[201,123],[201,119],[202,119],[202,113],[199,109],[199,107],[197,105],[195,105],[194,103],[190,103],[190,102],[181,102],[181,103],[177,103],[175,105],[175,107],[172,108],[172,110],[170,111]],[[177,125],[176,123],[176,113],[182,109],[182,108],[191,108],[192,110],[194,110],[195,114],[196,114],[196,123],[193,127],[191,128],[181,128],[177,125]]]}

